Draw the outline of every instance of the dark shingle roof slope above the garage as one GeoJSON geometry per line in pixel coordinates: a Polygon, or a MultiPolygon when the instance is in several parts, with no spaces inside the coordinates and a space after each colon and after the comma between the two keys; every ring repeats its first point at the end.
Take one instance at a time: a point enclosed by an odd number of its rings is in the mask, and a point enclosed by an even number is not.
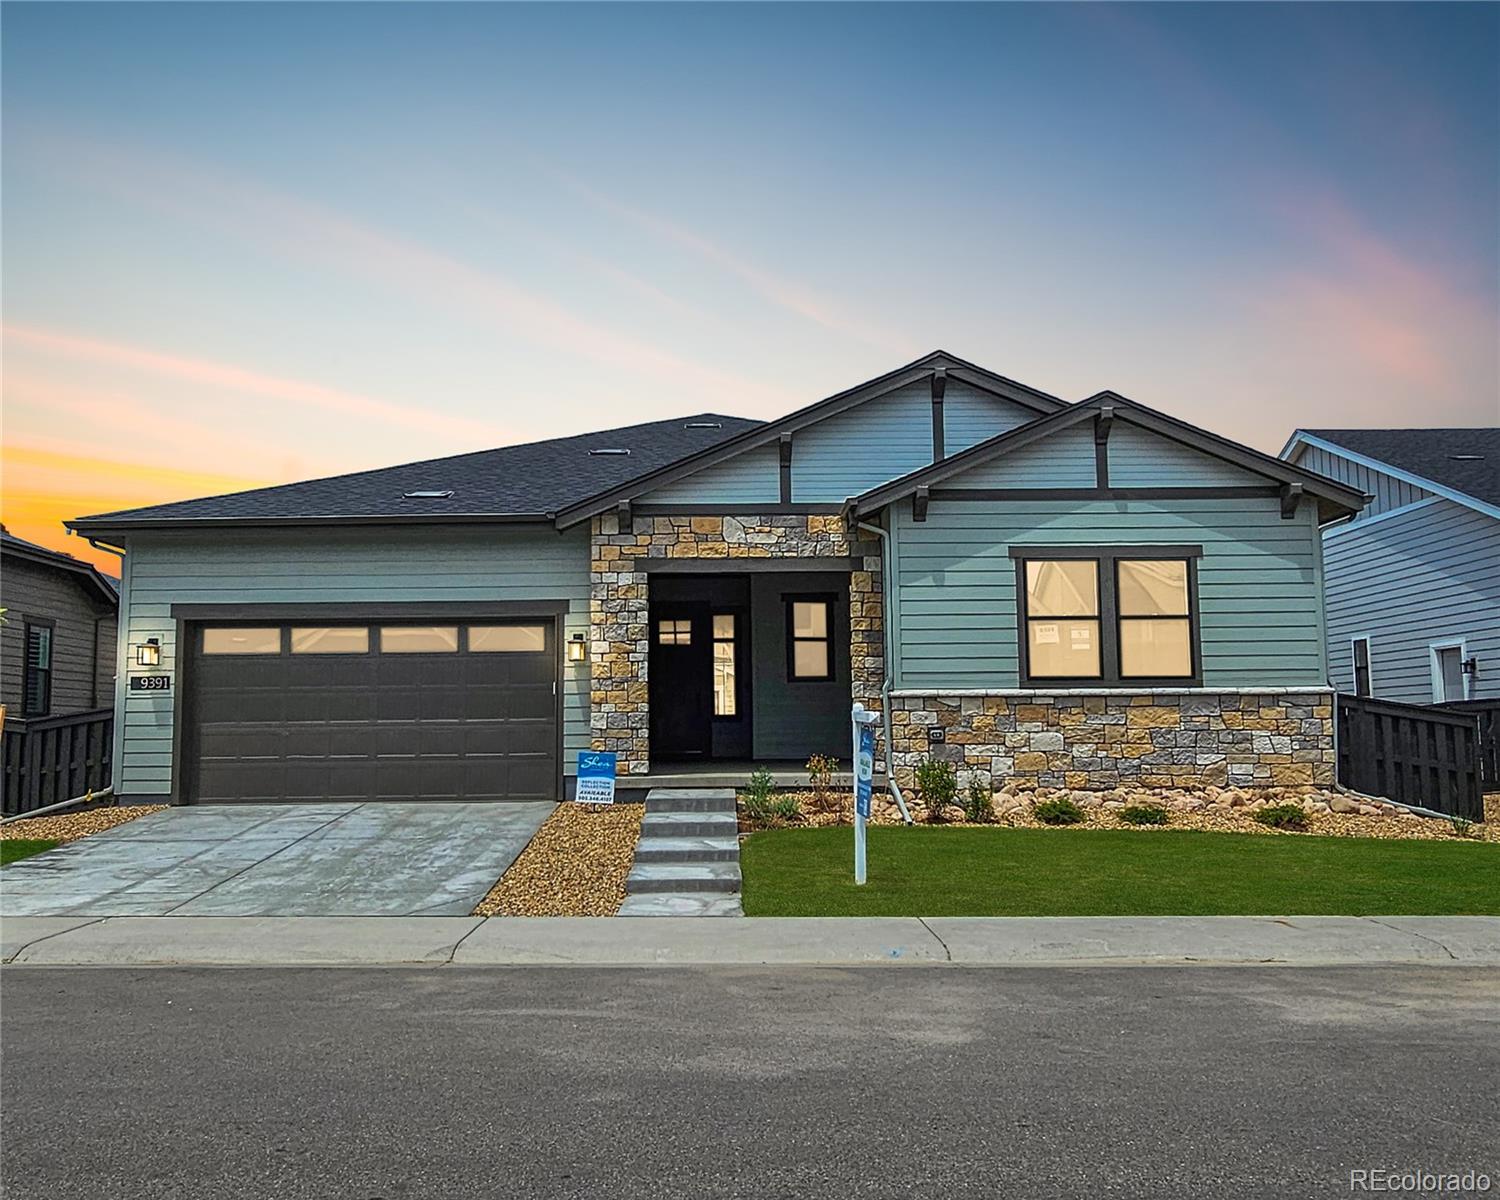
{"type": "Polygon", "coordinates": [[[762,422],[699,412],[351,476],[96,513],[80,518],[75,524],[106,528],[132,522],[192,519],[542,516],[580,504],[758,424],[762,422]],[[630,453],[591,454],[590,450],[630,453]],[[452,490],[453,495],[402,498],[405,492],[428,490],[452,490]]]}

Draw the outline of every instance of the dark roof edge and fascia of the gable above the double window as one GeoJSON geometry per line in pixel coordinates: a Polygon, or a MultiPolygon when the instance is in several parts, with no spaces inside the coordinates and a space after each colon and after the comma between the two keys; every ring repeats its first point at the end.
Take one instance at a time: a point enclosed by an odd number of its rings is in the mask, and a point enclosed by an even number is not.
{"type": "MultiPolygon", "coordinates": [[[[1264,480],[1266,483],[1292,489],[1290,495],[1296,495],[1296,492],[1300,490],[1317,496],[1320,501],[1318,516],[1322,520],[1359,512],[1364,504],[1364,494],[1354,488],[1324,478],[1323,476],[1282,462],[1270,454],[1263,454],[1258,450],[1240,446],[1228,438],[1221,438],[1206,429],[1198,429],[1197,426],[1180,422],[1176,417],[1168,417],[1166,412],[1146,408],[1146,405],[1137,404],[1136,400],[1120,396],[1119,393],[1101,392],[1096,396],[1090,396],[1089,399],[1082,400],[1060,412],[1054,412],[1050,417],[1041,417],[1040,420],[1024,424],[1020,429],[1000,434],[996,438],[972,446],[960,454],[954,454],[952,458],[946,458],[932,466],[926,466],[898,480],[892,480],[888,484],[874,488],[854,501],[854,510],[855,513],[872,513],[878,508],[884,508],[886,504],[915,495],[918,489],[938,486],[954,478],[956,476],[980,466],[981,464],[988,464],[1000,456],[1014,454],[1028,447],[1035,447],[1038,442],[1052,438],[1062,430],[1074,429],[1078,424],[1094,423],[1095,428],[1101,428],[1102,423],[1102,428],[1107,429],[1114,422],[1122,422],[1138,429],[1149,430],[1160,438],[1166,438],[1202,454],[1220,459],[1256,478],[1264,480]]],[[[1190,486],[1202,488],[1218,484],[1198,483],[1190,486]]]]}

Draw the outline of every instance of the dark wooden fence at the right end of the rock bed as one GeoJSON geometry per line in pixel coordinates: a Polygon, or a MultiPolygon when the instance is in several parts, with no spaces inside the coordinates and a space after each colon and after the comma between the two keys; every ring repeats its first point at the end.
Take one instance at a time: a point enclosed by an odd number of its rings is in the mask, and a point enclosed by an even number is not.
{"type": "Polygon", "coordinates": [[[1472,712],[1340,694],[1338,782],[1396,804],[1482,820],[1479,720],[1472,712]]]}

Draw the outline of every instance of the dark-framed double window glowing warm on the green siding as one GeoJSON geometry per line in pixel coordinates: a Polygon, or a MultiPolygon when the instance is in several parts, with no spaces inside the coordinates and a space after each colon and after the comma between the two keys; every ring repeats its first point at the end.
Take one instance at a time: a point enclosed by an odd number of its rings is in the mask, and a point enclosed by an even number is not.
{"type": "Polygon", "coordinates": [[[1192,682],[1198,549],[1012,548],[1022,675],[1036,682],[1192,682]]]}

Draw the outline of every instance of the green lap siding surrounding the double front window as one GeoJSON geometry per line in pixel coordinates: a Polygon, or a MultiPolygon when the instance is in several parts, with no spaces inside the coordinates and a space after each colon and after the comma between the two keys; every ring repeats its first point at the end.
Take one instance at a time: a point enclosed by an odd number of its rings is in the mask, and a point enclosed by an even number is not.
{"type": "Polygon", "coordinates": [[[1312,506],[1275,500],[933,501],[897,506],[900,687],[1016,687],[1012,544],[1202,544],[1204,687],[1324,681],[1312,506]]]}

